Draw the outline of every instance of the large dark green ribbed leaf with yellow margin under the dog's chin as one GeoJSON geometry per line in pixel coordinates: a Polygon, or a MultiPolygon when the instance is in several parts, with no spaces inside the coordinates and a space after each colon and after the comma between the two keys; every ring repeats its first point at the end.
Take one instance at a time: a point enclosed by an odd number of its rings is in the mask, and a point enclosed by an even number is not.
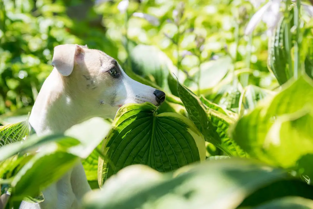
{"type": "Polygon", "coordinates": [[[132,164],[167,172],[205,159],[204,139],[194,124],[175,113],[156,115],[150,103],[121,107],[112,125],[102,146],[111,164],[99,159],[99,185],[132,164]]]}

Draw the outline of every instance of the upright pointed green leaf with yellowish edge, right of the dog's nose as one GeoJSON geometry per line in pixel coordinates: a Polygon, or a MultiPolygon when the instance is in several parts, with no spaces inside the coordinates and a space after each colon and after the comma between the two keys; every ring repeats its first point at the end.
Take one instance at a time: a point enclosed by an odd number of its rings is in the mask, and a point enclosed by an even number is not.
{"type": "Polygon", "coordinates": [[[189,117],[203,134],[205,140],[229,155],[244,157],[243,150],[228,136],[229,125],[234,119],[204,106],[200,99],[185,86],[177,83],[178,94],[189,117]]]}

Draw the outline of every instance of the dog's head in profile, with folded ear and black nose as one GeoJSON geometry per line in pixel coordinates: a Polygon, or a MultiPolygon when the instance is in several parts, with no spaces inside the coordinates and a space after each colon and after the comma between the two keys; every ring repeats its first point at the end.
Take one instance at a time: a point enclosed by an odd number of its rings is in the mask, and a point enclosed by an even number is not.
{"type": "Polygon", "coordinates": [[[58,45],[52,65],[61,75],[67,102],[80,103],[93,116],[114,118],[124,104],[151,102],[159,106],[165,100],[163,91],[134,81],[114,58],[100,50],[58,45]]]}

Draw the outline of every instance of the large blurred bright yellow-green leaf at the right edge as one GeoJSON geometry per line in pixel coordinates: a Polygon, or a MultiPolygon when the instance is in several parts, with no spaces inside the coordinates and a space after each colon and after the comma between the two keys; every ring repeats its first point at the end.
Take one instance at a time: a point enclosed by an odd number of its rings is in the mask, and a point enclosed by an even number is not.
{"type": "MultiPolygon", "coordinates": [[[[241,118],[233,138],[250,156],[295,169],[302,156],[313,153],[312,109],[313,82],[304,75],[241,118]]],[[[311,170],[310,164],[298,166],[311,170]]]]}

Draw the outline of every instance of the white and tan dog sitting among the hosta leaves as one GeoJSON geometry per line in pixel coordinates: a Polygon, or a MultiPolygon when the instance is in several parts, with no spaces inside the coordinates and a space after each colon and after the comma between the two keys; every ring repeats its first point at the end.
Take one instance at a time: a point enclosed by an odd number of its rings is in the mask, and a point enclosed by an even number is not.
{"type": "MultiPolygon", "coordinates": [[[[115,59],[77,44],[54,48],[53,71],[44,82],[29,123],[38,135],[64,132],[74,124],[98,116],[114,118],[126,103],[160,105],[163,91],[132,80],[115,59]]],[[[43,191],[39,204],[23,201],[20,208],[78,208],[90,190],[81,163],[43,191]]]]}

